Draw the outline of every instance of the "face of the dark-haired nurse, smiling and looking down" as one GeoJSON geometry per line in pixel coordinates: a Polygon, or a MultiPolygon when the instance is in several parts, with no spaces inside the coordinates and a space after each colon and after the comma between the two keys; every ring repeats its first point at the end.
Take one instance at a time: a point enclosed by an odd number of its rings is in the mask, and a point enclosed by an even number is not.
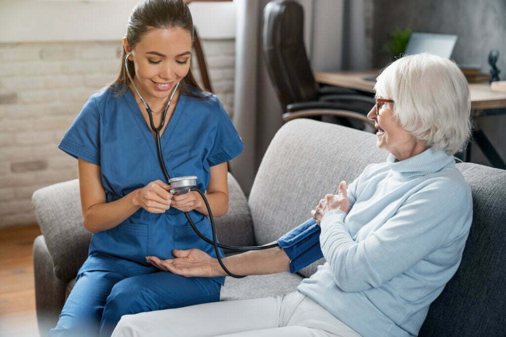
{"type": "Polygon", "coordinates": [[[123,44],[134,61],[134,82],[146,102],[166,99],[190,70],[191,35],[182,28],[151,29],[134,49],[126,38],[123,44]]]}

